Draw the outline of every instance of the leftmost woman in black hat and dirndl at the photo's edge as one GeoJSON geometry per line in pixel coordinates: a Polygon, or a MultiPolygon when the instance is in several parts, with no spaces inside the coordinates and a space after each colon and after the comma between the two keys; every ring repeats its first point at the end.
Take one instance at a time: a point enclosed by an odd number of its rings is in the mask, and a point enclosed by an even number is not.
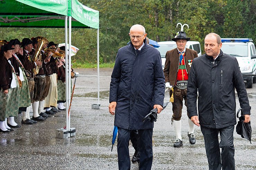
{"type": "Polygon", "coordinates": [[[2,132],[10,132],[13,130],[7,125],[7,118],[14,115],[10,114],[10,110],[16,111],[16,116],[18,114],[18,109],[10,109],[13,108],[13,106],[16,108],[17,103],[19,105],[19,101],[17,101],[17,97],[15,97],[15,95],[17,95],[15,92],[18,91],[18,79],[11,65],[11,61],[9,60],[12,57],[12,50],[13,48],[9,44],[6,44],[1,47],[0,51],[0,131],[2,132]]]}

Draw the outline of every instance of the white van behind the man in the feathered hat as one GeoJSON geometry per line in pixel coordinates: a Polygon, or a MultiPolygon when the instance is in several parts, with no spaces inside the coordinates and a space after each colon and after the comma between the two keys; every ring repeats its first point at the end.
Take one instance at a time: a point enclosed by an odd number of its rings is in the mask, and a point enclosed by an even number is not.
{"type": "MultiPolygon", "coordinates": [[[[156,49],[161,54],[162,67],[163,67],[163,70],[164,70],[166,52],[177,48],[177,45],[176,45],[175,41],[161,41],[161,42],[157,42],[157,43],[160,45],[160,47],[158,47],[156,49]]],[[[198,41],[188,41],[186,43],[186,48],[195,50],[197,52],[198,56],[202,55],[201,46],[200,46],[200,43],[198,41]]]]}

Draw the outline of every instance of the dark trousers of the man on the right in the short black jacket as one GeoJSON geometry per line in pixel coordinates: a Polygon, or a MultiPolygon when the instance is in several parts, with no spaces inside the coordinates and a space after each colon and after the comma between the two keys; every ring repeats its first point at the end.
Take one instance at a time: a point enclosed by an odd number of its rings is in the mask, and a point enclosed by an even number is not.
{"type": "Polygon", "coordinates": [[[222,170],[235,170],[234,126],[220,129],[201,126],[201,131],[204,137],[209,170],[221,170],[221,167],[222,170]]]}

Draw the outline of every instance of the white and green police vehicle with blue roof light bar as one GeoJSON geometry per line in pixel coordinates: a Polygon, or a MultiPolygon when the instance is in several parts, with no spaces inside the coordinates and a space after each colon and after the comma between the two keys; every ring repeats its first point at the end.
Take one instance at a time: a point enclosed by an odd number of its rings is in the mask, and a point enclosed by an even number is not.
{"type": "Polygon", "coordinates": [[[248,38],[222,38],[221,50],[237,58],[246,88],[252,88],[256,83],[256,51],[252,39],[248,38]],[[249,74],[249,75],[247,75],[249,74]]]}

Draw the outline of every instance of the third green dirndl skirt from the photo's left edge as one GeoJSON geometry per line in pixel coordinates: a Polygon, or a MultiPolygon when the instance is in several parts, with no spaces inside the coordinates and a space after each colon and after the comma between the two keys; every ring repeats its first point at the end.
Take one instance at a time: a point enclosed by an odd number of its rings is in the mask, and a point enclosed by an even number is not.
{"type": "Polygon", "coordinates": [[[19,93],[19,107],[28,107],[30,106],[30,93],[28,88],[28,79],[26,77],[23,67],[21,67],[21,70],[24,77],[24,81],[22,82],[22,87],[20,88],[20,93],[19,93]]]}

